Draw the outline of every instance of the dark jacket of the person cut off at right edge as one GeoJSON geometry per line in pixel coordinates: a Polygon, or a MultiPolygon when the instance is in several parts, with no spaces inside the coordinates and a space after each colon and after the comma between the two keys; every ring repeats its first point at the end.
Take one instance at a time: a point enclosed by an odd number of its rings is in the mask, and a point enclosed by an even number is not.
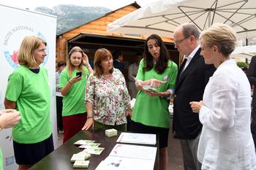
{"type": "Polygon", "coordinates": [[[247,77],[251,85],[255,85],[252,95],[252,106],[256,108],[256,55],[252,57],[251,63],[249,64],[247,77]]]}

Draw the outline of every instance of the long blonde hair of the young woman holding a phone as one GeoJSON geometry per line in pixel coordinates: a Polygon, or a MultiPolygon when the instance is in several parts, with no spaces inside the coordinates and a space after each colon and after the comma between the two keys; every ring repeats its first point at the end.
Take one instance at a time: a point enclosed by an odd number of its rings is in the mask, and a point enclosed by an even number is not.
{"type": "MultiPolygon", "coordinates": [[[[83,50],[80,48],[80,47],[72,47],[72,49],[69,51],[69,55],[67,57],[67,72],[69,73],[69,76],[71,76],[72,72],[74,71],[74,66],[73,64],[71,63],[71,60],[70,60],[70,57],[73,53],[81,53],[82,54],[82,57],[84,57],[84,54],[83,54],[83,50]]],[[[81,61],[80,65],[78,66],[78,69],[80,70],[80,72],[84,72],[84,66],[83,66],[83,60],[81,61]]]]}

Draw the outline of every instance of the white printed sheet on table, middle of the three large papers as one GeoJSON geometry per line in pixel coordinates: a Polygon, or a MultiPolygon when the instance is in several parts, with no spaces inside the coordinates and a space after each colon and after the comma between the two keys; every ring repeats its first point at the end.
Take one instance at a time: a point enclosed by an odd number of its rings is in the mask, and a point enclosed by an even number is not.
{"type": "Polygon", "coordinates": [[[110,152],[111,156],[139,158],[155,160],[157,155],[157,147],[146,147],[132,144],[116,144],[110,152]]]}

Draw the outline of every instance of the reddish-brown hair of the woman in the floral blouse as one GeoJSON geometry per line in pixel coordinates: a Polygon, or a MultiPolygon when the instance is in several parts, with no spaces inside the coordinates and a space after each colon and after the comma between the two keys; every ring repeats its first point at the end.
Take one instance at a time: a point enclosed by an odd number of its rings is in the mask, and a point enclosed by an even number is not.
{"type": "MultiPolygon", "coordinates": [[[[101,66],[101,63],[103,60],[107,59],[107,58],[111,58],[113,59],[112,57],[112,54],[110,53],[109,50],[105,49],[105,48],[99,48],[95,55],[94,55],[94,75],[99,77],[103,74],[103,68],[101,66]]],[[[110,73],[113,73],[113,67],[112,69],[110,69],[110,73]]]]}

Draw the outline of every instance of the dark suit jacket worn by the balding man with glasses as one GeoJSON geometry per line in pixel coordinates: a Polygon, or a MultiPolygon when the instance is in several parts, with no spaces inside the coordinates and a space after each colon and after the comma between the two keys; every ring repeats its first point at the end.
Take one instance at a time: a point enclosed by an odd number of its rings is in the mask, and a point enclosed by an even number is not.
{"type": "Polygon", "coordinates": [[[187,68],[181,65],[176,79],[173,101],[173,131],[178,139],[195,139],[201,131],[202,124],[198,114],[192,112],[189,102],[203,99],[203,91],[209,77],[215,72],[214,65],[206,65],[200,49],[194,55],[187,68]],[[180,76],[181,74],[181,76],[180,76]]]}

